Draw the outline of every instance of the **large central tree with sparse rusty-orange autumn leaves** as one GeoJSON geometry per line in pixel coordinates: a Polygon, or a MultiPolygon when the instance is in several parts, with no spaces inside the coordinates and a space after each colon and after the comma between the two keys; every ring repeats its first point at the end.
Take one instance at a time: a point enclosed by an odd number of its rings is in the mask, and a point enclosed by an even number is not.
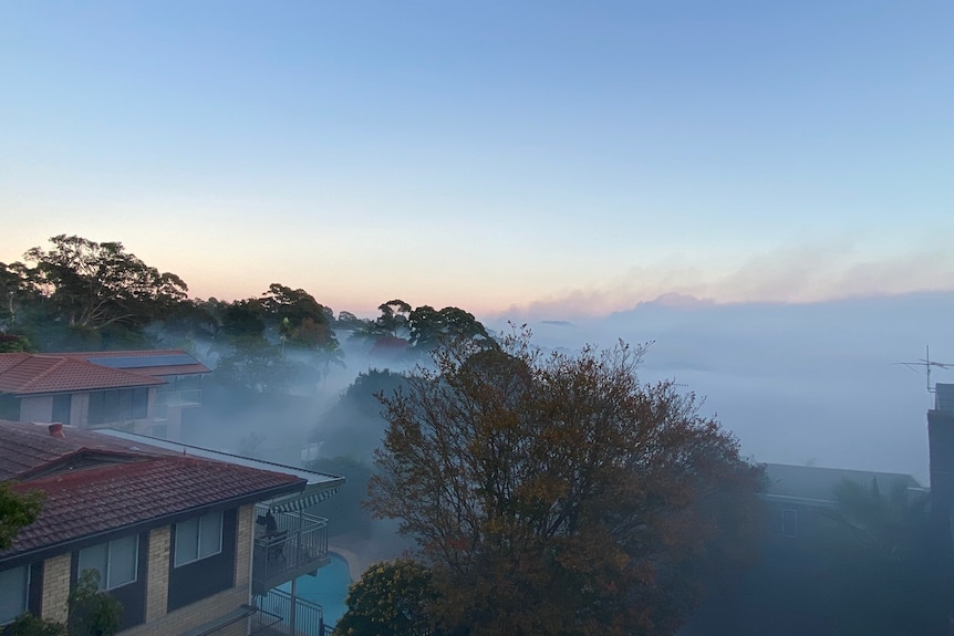
{"type": "Polygon", "coordinates": [[[761,471],[644,352],[457,341],[383,398],[369,489],[431,564],[444,630],[673,634],[746,553],[761,471]]]}

